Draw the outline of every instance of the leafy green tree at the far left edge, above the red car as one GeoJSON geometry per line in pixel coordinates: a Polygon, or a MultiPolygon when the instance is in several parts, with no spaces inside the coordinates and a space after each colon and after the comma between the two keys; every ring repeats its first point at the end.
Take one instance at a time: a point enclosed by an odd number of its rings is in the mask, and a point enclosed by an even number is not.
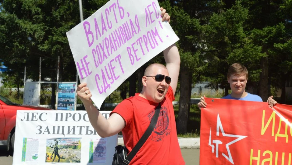
{"type": "MultiPolygon", "coordinates": [[[[23,84],[24,66],[32,58],[31,48],[44,36],[43,27],[19,17],[27,12],[27,6],[22,8],[9,0],[5,3],[0,1],[0,3],[2,8],[0,11],[0,49],[2,50],[0,61],[7,66],[8,70],[3,74],[7,75],[8,81],[16,84],[19,97],[19,87],[23,84]]],[[[26,17],[33,18],[29,14],[26,17]]]]}

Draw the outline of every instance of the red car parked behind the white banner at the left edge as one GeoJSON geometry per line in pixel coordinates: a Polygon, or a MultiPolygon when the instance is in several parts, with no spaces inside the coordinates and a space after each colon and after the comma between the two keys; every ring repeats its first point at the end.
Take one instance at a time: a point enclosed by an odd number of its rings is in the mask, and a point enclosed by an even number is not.
{"type": "Polygon", "coordinates": [[[0,95],[0,144],[7,145],[7,151],[11,145],[14,149],[15,124],[17,110],[52,110],[40,106],[27,106],[13,103],[0,95]]]}

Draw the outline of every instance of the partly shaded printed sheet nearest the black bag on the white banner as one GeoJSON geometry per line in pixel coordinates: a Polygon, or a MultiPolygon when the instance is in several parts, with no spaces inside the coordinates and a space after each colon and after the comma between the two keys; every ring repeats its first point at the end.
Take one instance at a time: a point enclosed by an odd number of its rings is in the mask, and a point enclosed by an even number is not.
{"type": "Polygon", "coordinates": [[[106,139],[90,139],[89,142],[89,163],[106,162],[106,139]]]}

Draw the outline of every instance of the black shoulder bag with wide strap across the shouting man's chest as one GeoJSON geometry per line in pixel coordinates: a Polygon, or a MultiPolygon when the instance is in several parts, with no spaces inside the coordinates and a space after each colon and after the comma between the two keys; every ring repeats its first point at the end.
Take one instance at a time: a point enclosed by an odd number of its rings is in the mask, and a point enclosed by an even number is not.
{"type": "Polygon", "coordinates": [[[112,165],[128,165],[131,160],[134,158],[136,153],[139,151],[139,149],[143,146],[143,144],[146,142],[148,137],[151,135],[157,120],[159,116],[159,112],[161,110],[161,105],[156,107],[155,114],[153,118],[151,119],[150,125],[145,131],[145,133],[142,135],[141,139],[138,141],[138,143],[135,145],[135,147],[132,149],[132,151],[128,155],[128,149],[125,146],[117,145],[114,150],[114,159],[112,165]],[[127,156],[128,155],[128,156],[127,156]]]}

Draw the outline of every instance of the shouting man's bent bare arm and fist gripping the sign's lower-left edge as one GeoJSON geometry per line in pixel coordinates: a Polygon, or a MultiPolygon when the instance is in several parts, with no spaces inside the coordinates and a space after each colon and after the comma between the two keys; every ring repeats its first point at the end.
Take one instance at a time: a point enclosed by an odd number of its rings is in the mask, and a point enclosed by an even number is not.
{"type": "Polygon", "coordinates": [[[113,113],[107,120],[92,104],[92,96],[86,83],[81,83],[77,87],[77,95],[82,101],[87,112],[90,124],[100,137],[105,138],[119,133],[126,125],[122,116],[113,113]]]}

